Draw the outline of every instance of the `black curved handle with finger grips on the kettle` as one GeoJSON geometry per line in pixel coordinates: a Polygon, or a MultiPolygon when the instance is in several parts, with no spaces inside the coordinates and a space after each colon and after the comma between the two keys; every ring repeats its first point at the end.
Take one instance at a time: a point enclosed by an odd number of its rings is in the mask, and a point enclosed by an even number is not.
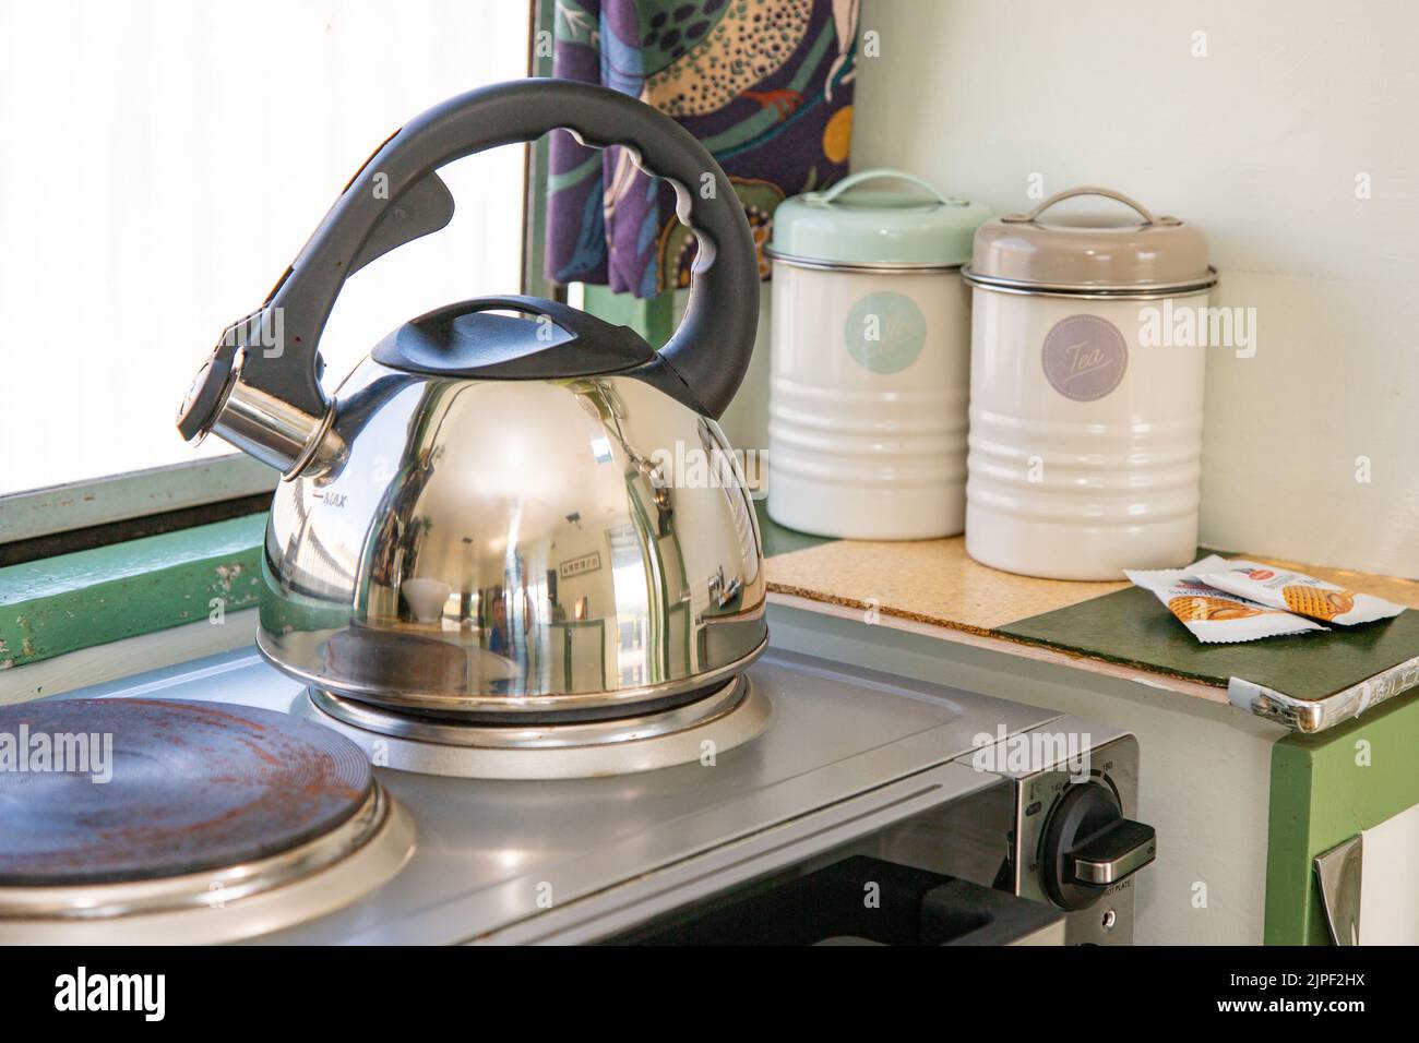
{"type": "Polygon", "coordinates": [[[498,145],[568,129],[587,145],[624,145],[675,187],[677,213],[700,238],[690,307],[660,356],[708,416],[734,397],[753,353],[759,274],[749,224],[724,170],[671,118],[629,95],[570,79],[521,79],[451,98],[385,142],[331,207],[268,301],[287,351],[255,352],[243,382],[316,412],[316,345],[345,280],[387,209],[437,167],[498,145]]]}

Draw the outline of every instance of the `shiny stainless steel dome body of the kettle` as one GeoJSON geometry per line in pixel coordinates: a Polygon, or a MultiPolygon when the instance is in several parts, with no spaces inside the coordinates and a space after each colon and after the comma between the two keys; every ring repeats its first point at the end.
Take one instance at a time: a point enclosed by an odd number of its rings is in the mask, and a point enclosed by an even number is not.
{"type": "Polygon", "coordinates": [[[375,360],[280,485],[258,644],[312,687],[458,717],[668,707],[766,640],[753,507],[718,424],[629,376],[375,360]]]}

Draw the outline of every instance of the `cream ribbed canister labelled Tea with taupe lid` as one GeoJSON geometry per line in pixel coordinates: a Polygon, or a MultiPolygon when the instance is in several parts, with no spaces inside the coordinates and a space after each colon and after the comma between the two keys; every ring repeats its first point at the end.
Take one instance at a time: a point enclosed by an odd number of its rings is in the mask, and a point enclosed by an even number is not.
{"type": "Polygon", "coordinates": [[[1189,563],[1205,343],[1159,346],[1147,331],[1162,312],[1206,315],[1218,274],[1202,231],[1110,189],[1071,189],[982,224],[965,280],[966,552],[1049,579],[1189,563]],[[1046,216],[1080,196],[1134,213],[1046,216]]]}

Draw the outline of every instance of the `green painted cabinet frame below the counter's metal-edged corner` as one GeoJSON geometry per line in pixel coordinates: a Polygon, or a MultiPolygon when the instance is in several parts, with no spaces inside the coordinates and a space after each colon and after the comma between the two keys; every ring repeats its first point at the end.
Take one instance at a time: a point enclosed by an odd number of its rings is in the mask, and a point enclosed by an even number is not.
{"type": "Polygon", "coordinates": [[[1320,735],[1288,735],[1271,748],[1267,945],[1330,942],[1313,859],[1419,805],[1415,751],[1415,695],[1320,735]]]}

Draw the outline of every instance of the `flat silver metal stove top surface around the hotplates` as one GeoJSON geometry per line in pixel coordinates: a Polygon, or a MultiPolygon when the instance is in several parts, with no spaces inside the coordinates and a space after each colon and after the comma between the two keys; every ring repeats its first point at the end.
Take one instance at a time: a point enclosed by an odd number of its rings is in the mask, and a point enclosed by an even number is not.
{"type": "MultiPolygon", "coordinates": [[[[299,922],[272,920],[244,935],[298,944],[576,939],[578,929],[592,929],[578,925],[593,912],[630,901],[647,908],[658,894],[668,895],[667,881],[692,881],[707,860],[742,859],[786,836],[827,836],[832,822],[901,815],[990,786],[998,776],[956,758],[968,761],[981,735],[1013,735],[1057,718],[1017,702],[778,651],[751,667],[748,683],[766,707],[762,731],[741,745],[710,746],[690,763],[653,771],[551,780],[450,778],[382,766],[389,761],[376,742],[366,751],[376,765],[375,789],[407,813],[407,861],[386,851],[387,883],[370,884],[365,873],[365,890],[346,893],[339,908],[326,898],[299,922]]],[[[75,728],[95,731],[82,724],[85,712],[114,698],[237,704],[251,708],[255,722],[268,714],[309,717],[304,687],[254,650],[72,692],[48,705],[70,701],[75,728]]],[[[295,734],[319,746],[304,728],[295,734]]],[[[332,776],[342,780],[341,792],[359,792],[355,766],[342,772],[332,776]]],[[[210,776],[194,765],[193,778],[210,776]]],[[[336,813],[333,806],[311,812],[336,813]]]]}

